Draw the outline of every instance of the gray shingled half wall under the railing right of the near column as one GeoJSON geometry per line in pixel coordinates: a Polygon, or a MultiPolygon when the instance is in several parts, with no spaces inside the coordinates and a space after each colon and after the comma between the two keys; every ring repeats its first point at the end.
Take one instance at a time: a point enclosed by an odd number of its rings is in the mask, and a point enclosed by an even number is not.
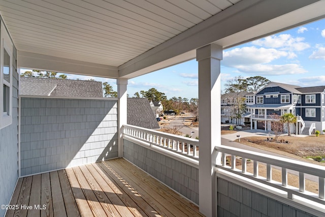
{"type": "Polygon", "coordinates": [[[223,178],[217,179],[218,216],[223,217],[312,217],[265,195],[256,193],[223,178]]]}

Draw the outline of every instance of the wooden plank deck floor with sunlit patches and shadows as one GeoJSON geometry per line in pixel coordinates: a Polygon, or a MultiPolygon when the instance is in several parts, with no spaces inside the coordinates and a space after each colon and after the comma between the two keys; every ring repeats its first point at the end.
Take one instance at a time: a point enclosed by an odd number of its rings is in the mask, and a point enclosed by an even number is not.
{"type": "Polygon", "coordinates": [[[6,216],[203,216],[124,159],[20,178],[6,216]]]}

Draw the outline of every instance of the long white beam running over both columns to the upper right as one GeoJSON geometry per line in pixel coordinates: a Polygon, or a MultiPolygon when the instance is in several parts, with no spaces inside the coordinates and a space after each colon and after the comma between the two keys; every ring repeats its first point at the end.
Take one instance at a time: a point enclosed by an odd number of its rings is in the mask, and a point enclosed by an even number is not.
{"type": "Polygon", "coordinates": [[[324,14],[324,1],[313,4],[317,1],[242,0],[119,66],[119,76],[133,78],[182,63],[195,57],[191,51],[211,43],[228,48],[316,20],[316,17],[319,19],[324,14]],[[289,16],[288,13],[293,14],[289,16]],[[270,23],[273,19],[276,21],[270,23]],[[182,56],[184,53],[190,55],[182,56]],[[173,57],[178,58],[178,63],[173,61],[173,57]]]}

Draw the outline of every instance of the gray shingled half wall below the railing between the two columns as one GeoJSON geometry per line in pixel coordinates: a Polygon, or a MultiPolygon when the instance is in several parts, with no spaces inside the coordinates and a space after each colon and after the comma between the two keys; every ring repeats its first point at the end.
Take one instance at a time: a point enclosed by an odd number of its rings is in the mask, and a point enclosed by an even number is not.
{"type": "Polygon", "coordinates": [[[123,157],[184,197],[199,204],[199,169],[123,140],[123,157]]]}

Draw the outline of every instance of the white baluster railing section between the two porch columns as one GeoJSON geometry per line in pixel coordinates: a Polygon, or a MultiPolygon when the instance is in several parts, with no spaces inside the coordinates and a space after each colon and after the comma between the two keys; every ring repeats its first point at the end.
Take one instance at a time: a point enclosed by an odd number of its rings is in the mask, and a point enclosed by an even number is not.
{"type": "Polygon", "coordinates": [[[199,140],[169,133],[123,125],[123,134],[146,143],[199,160],[199,140]]]}

